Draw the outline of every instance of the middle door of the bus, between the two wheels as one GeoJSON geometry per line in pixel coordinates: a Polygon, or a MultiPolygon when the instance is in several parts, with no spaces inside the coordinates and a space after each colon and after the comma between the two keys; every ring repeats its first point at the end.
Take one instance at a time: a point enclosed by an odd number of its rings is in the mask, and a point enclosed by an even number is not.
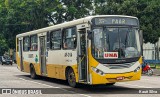
{"type": "Polygon", "coordinates": [[[40,42],[40,48],[39,48],[39,58],[40,58],[40,67],[41,67],[41,74],[43,76],[47,75],[47,69],[46,69],[46,37],[40,36],[39,37],[40,42]]]}

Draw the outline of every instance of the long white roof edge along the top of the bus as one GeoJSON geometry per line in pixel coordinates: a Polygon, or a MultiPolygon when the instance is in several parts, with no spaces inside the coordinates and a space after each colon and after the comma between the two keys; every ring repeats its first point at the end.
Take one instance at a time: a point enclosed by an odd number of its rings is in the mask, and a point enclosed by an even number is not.
{"type": "Polygon", "coordinates": [[[61,23],[61,24],[45,27],[45,28],[42,28],[42,29],[37,29],[37,30],[33,30],[33,31],[22,33],[22,34],[18,34],[16,37],[18,38],[18,37],[23,37],[23,36],[28,36],[28,35],[34,35],[34,34],[39,34],[39,33],[48,32],[48,31],[52,31],[52,30],[58,30],[58,29],[66,28],[66,27],[72,27],[74,25],[88,23],[88,22],[91,21],[92,18],[95,18],[95,17],[126,17],[126,18],[128,17],[128,18],[138,19],[137,17],[126,16],[126,15],[95,15],[95,16],[87,16],[87,17],[84,17],[84,18],[81,18],[81,19],[76,19],[76,20],[73,20],[73,21],[64,22],[64,23],[61,23]]]}

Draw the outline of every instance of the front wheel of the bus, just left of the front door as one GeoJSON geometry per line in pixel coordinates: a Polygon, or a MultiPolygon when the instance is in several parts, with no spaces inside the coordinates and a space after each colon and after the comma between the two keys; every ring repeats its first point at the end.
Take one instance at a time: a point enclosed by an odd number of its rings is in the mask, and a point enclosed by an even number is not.
{"type": "Polygon", "coordinates": [[[69,69],[67,77],[68,84],[71,87],[76,87],[76,77],[72,69],[69,69]]]}

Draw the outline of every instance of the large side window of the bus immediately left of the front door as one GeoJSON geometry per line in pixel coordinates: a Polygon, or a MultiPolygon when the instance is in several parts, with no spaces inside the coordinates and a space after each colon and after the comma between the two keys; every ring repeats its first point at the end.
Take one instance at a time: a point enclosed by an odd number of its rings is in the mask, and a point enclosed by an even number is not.
{"type": "Polygon", "coordinates": [[[76,48],[76,28],[68,28],[63,32],[63,48],[74,49],[76,48]]]}

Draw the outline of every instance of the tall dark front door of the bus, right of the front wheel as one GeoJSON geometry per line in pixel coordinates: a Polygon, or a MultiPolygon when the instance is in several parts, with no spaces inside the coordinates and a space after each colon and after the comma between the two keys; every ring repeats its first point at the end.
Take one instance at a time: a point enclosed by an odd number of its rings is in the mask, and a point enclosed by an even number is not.
{"type": "Polygon", "coordinates": [[[78,72],[79,82],[87,82],[87,37],[86,29],[80,29],[78,31],[78,72]]]}

